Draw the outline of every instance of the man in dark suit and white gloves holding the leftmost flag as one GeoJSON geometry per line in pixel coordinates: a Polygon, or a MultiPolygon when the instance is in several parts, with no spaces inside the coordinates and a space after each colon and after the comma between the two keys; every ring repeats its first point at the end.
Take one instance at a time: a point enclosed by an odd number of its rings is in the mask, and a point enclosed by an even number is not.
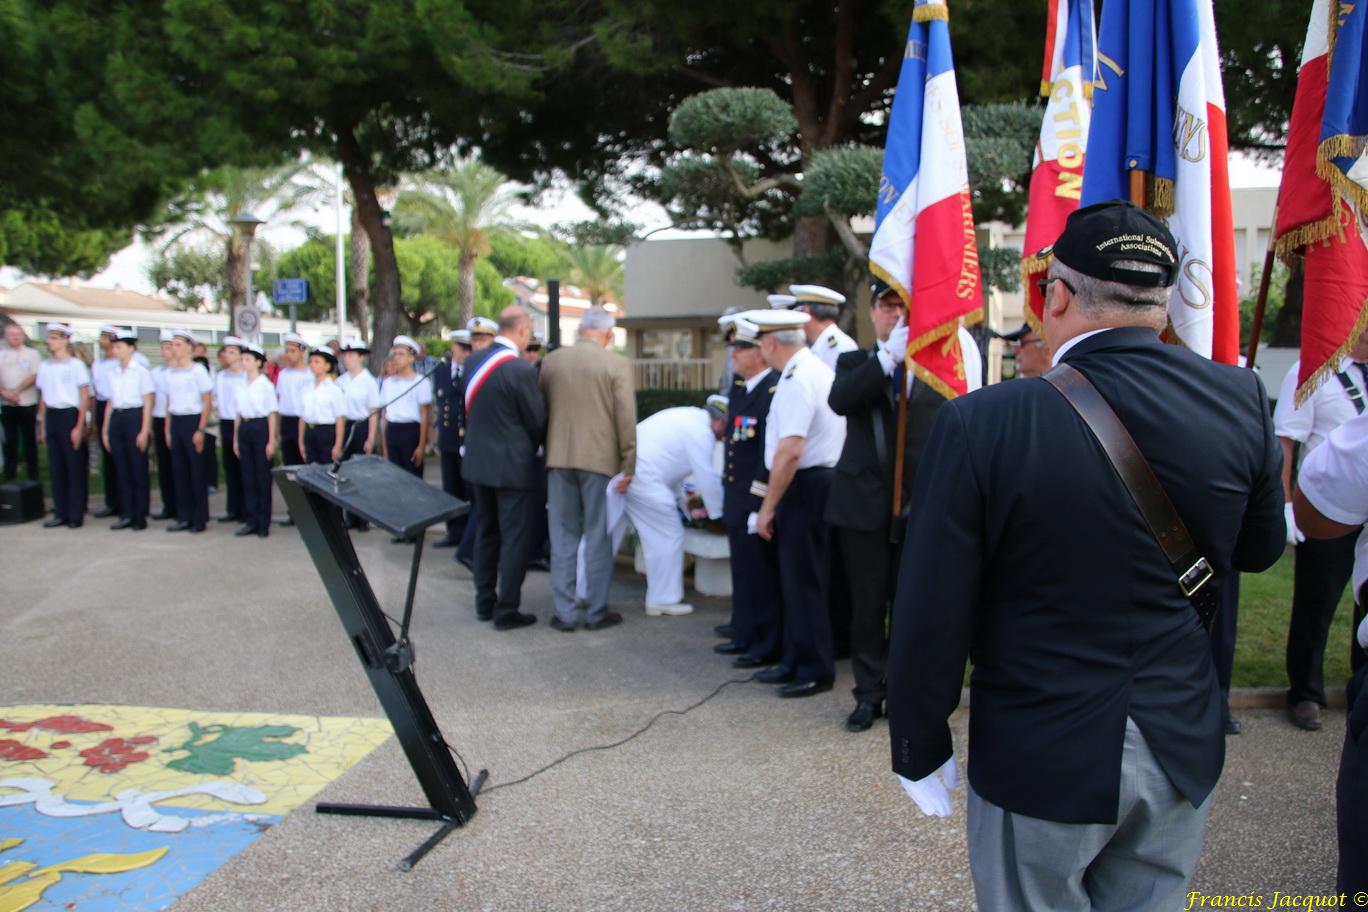
{"type": "Polygon", "coordinates": [[[902,503],[897,505],[900,517],[895,522],[896,397],[899,387],[906,387],[907,309],[896,290],[876,282],[869,310],[878,343],[837,358],[828,399],[832,412],[845,417],[845,446],[836,464],[832,495],[826,499],[826,521],[836,526],[850,587],[851,670],[855,674],[855,710],[845,719],[850,732],[865,732],[882,715],[888,606],[906,522],[902,514],[936,413],[945,403],[945,397],[930,386],[912,383],[907,401],[902,503]]]}

